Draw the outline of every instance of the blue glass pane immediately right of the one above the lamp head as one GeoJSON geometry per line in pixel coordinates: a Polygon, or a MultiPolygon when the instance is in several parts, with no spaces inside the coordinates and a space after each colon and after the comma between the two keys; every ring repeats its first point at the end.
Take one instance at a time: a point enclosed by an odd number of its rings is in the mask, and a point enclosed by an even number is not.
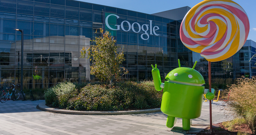
{"type": "Polygon", "coordinates": [[[49,24],[34,23],[34,35],[49,36],[49,24]]]}

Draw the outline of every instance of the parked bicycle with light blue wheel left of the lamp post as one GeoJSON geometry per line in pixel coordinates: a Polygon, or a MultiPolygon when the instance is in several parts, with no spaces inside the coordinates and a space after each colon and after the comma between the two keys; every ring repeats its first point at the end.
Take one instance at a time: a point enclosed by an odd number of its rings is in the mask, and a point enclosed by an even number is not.
{"type": "Polygon", "coordinates": [[[19,90],[16,90],[16,89],[15,89],[15,86],[16,86],[16,85],[14,85],[14,84],[12,84],[12,85],[13,85],[13,89],[12,89],[11,94],[10,94],[10,92],[9,92],[9,89],[12,88],[12,87],[6,88],[6,89],[7,89],[7,92],[3,92],[3,93],[1,94],[1,96],[0,96],[0,101],[1,101],[1,103],[5,103],[5,102],[8,100],[8,98],[10,98],[10,99],[12,99],[12,100],[18,100],[18,99],[19,99],[19,97],[20,97],[20,92],[19,92],[19,90]]]}

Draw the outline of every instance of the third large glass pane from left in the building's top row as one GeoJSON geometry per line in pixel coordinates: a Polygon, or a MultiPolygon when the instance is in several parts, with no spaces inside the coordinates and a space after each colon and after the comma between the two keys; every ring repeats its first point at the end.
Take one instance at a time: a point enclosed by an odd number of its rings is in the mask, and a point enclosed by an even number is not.
{"type": "Polygon", "coordinates": [[[50,4],[35,2],[34,15],[50,15],[50,4]]]}

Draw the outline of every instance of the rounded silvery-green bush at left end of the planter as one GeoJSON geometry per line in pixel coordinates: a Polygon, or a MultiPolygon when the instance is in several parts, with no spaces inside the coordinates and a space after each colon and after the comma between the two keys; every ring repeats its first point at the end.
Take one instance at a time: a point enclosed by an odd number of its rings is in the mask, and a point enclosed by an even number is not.
{"type": "Polygon", "coordinates": [[[75,85],[71,82],[60,82],[45,92],[45,103],[53,107],[66,108],[68,99],[76,95],[75,85]]]}

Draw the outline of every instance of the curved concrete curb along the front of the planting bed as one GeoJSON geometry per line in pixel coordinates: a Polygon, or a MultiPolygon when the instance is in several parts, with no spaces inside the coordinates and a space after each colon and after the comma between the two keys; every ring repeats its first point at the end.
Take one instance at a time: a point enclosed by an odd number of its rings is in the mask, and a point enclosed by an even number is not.
{"type": "Polygon", "coordinates": [[[160,108],[131,110],[131,111],[75,111],[75,110],[51,108],[51,107],[46,106],[45,102],[38,104],[38,107],[42,111],[64,113],[64,114],[77,114],[77,115],[125,115],[125,114],[138,114],[138,113],[152,113],[152,112],[160,112],[161,111],[160,108]]]}

